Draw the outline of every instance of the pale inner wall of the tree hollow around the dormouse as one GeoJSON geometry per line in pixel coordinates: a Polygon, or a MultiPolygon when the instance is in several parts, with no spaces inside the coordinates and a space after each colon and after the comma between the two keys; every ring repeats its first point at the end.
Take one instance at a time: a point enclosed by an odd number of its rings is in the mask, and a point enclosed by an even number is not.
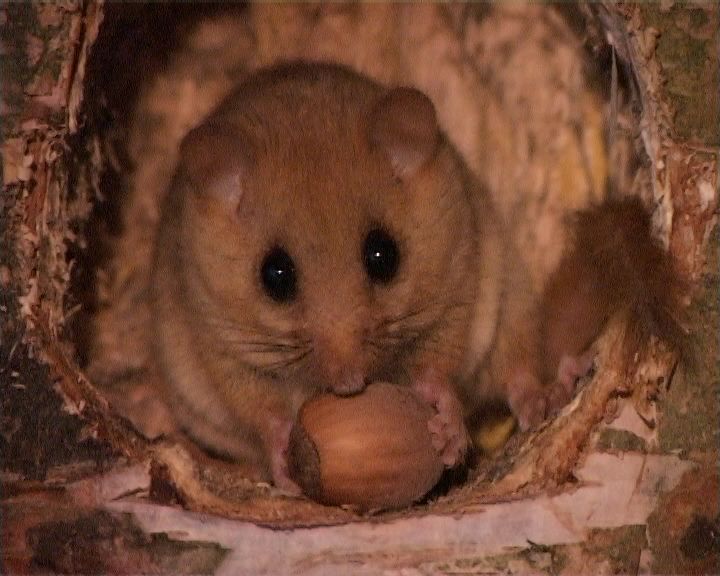
{"type": "MultiPolygon", "coordinates": [[[[80,265],[71,287],[83,304],[71,328],[90,381],[146,436],[176,432],[148,341],[160,199],[183,135],[236,82],[288,59],[334,61],[426,92],[448,138],[487,183],[540,292],[567,241],[569,214],[616,194],[653,198],[637,87],[630,64],[606,41],[610,24],[604,9],[584,5],[108,5],[86,91],[89,136],[103,158],[92,159],[90,170],[101,175],[99,200],[85,230],[88,246],[74,255],[80,265]]],[[[605,400],[586,410],[602,414],[608,395],[599,397],[605,400]]],[[[552,468],[555,484],[571,477],[598,419],[572,424],[573,449],[552,468]]],[[[532,485],[492,487],[512,476],[528,451],[540,450],[532,443],[540,442],[537,435],[512,436],[514,422],[497,403],[483,406],[471,423],[476,464],[468,478],[441,483],[430,498],[433,510],[532,485]]],[[[190,508],[269,522],[270,499],[279,524],[298,518],[293,502],[245,481],[227,462],[189,448],[182,454],[196,460],[182,464],[173,449],[162,450],[167,483],[190,508]],[[184,465],[202,489],[177,485],[184,465]],[[193,500],[187,490],[204,495],[193,500]],[[255,508],[237,512],[237,502],[253,498],[255,508]]],[[[538,489],[546,484],[538,480],[538,489]]],[[[321,508],[303,514],[305,523],[352,518],[321,508]]]]}

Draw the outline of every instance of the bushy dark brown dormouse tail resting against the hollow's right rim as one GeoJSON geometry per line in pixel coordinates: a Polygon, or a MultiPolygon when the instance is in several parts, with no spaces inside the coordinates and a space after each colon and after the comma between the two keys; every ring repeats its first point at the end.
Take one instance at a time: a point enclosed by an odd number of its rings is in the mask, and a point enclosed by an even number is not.
{"type": "Polygon", "coordinates": [[[555,377],[563,356],[581,355],[620,312],[627,314],[633,349],[654,334],[681,350],[683,283],[652,236],[641,200],[610,200],[582,211],[573,234],[542,300],[545,377],[555,377]]]}

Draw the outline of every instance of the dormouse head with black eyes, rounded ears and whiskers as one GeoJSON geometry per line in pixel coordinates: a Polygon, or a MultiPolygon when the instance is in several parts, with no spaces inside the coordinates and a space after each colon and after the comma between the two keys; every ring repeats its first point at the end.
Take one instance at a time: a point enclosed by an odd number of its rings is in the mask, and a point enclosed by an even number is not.
{"type": "Polygon", "coordinates": [[[463,317],[472,210],[417,90],[260,73],[190,132],[180,171],[187,290],[226,353],[278,385],[401,378],[463,317]]]}

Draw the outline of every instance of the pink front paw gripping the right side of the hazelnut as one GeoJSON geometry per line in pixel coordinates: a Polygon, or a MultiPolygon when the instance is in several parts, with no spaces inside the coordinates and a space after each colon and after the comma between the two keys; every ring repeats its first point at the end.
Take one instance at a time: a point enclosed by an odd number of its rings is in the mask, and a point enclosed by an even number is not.
{"type": "Polygon", "coordinates": [[[437,412],[428,420],[428,430],[433,447],[447,468],[465,461],[469,439],[460,401],[449,384],[440,380],[423,378],[414,385],[415,390],[437,412]]]}

